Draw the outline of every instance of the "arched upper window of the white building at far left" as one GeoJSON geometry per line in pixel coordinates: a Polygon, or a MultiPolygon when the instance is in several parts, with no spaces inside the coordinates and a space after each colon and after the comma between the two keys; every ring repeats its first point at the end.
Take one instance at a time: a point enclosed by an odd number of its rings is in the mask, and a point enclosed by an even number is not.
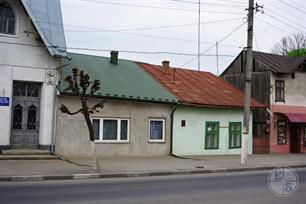
{"type": "Polygon", "coordinates": [[[0,0],[0,33],[15,34],[15,14],[13,8],[0,0]]]}

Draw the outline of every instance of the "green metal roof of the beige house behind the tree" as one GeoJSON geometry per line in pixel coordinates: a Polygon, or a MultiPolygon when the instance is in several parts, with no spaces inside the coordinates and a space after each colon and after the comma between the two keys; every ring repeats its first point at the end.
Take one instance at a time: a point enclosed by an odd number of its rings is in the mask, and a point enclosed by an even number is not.
{"type": "MultiPolygon", "coordinates": [[[[118,60],[118,65],[111,64],[110,58],[85,54],[67,53],[71,64],[62,69],[60,90],[67,87],[64,78],[71,75],[75,67],[89,74],[91,80],[100,80],[101,89],[97,96],[125,100],[174,103],[175,96],[141,69],[135,62],[118,60]]],[[[63,94],[63,92],[62,92],[63,94]]]]}

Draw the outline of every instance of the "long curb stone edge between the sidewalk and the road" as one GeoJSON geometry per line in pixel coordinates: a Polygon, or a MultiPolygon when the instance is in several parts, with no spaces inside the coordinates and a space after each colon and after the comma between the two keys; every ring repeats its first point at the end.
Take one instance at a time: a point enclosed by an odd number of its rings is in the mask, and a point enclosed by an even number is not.
{"type": "MultiPolygon", "coordinates": [[[[291,168],[306,168],[306,165],[288,165],[291,168]]],[[[155,172],[127,172],[127,173],[82,173],[82,174],[63,174],[63,175],[31,175],[31,176],[0,176],[0,182],[4,181],[43,181],[43,180],[81,180],[81,179],[100,179],[100,178],[127,178],[127,177],[148,177],[148,176],[171,176],[171,175],[192,175],[207,173],[225,172],[246,172],[271,170],[275,166],[264,167],[244,167],[244,168],[219,168],[202,170],[177,170],[177,171],[155,171],[155,172]]]]}

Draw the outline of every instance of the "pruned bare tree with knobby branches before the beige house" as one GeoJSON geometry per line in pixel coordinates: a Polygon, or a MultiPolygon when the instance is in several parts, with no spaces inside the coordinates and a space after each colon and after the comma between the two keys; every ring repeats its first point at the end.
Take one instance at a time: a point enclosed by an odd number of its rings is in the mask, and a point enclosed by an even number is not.
{"type": "Polygon", "coordinates": [[[89,106],[88,100],[94,96],[94,94],[100,89],[101,83],[99,80],[90,81],[88,74],[78,68],[72,69],[72,75],[65,77],[65,81],[68,83],[68,87],[65,91],[71,91],[72,94],[79,97],[81,101],[81,108],[75,112],[71,112],[68,107],[64,104],[61,105],[60,111],[68,115],[76,115],[82,113],[86,121],[89,140],[92,148],[93,154],[93,164],[95,171],[99,171],[99,164],[97,160],[96,146],[95,146],[95,136],[92,122],[90,120],[90,115],[99,112],[98,109],[102,109],[104,106],[104,100],[98,102],[95,105],[89,106]]]}

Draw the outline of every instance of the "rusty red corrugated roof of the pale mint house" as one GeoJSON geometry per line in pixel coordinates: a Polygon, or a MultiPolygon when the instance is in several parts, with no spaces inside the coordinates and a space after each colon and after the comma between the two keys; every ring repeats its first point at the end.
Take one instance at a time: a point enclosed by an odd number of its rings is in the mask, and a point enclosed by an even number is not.
{"type": "MultiPolygon", "coordinates": [[[[182,104],[207,107],[243,107],[244,94],[209,72],[178,68],[164,72],[161,66],[138,64],[174,94],[182,104]]],[[[265,106],[252,99],[251,107],[264,108],[265,106]]]]}

